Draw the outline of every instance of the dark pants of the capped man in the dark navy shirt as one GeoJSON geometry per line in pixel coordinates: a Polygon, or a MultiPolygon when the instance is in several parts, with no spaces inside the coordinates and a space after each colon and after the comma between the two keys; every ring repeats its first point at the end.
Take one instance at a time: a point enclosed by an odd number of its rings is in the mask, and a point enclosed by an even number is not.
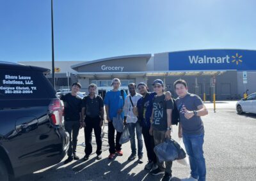
{"type": "Polygon", "coordinates": [[[144,138],[144,143],[147,149],[147,156],[148,156],[148,161],[153,161],[154,163],[156,162],[156,154],[154,152],[154,137],[149,134],[149,129],[150,127],[142,127],[142,134],[144,138]]]}

